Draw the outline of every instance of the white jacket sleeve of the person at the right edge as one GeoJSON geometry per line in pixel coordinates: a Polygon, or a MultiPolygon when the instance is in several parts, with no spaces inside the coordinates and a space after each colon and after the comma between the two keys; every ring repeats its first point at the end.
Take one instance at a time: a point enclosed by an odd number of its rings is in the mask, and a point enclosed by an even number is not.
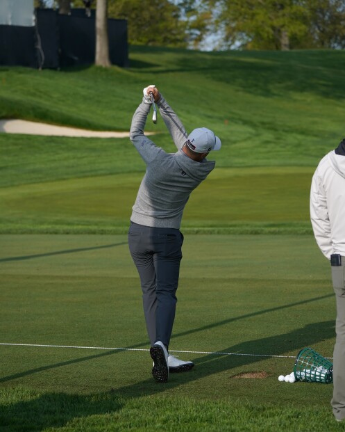
{"type": "Polygon", "coordinates": [[[328,216],[326,193],[321,184],[321,177],[318,175],[318,170],[315,171],[312,177],[310,218],[317,244],[323,255],[330,259],[330,255],[333,253],[330,219],[328,216]]]}

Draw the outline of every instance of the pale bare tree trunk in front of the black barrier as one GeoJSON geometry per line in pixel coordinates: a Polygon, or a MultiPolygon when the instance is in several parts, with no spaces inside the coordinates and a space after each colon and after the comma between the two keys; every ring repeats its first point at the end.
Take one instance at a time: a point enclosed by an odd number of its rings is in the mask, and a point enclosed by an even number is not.
{"type": "Polygon", "coordinates": [[[96,65],[109,67],[108,1],[97,0],[96,4],[96,65]]]}

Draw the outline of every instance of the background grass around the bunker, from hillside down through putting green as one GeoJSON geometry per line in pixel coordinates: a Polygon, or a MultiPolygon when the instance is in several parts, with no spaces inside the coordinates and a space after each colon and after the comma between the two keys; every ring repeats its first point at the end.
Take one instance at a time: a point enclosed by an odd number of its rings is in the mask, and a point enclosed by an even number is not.
{"type": "MultiPolygon", "coordinates": [[[[185,229],[310,232],[312,172],[342,137],[344,63],[342,51],[140,47],[128,70],[1,68],[0,116],[127,130],[142,87],[154,81],[188,130],[208,126],[224,144],[186,208],[185,229]]],[[[174,151],[162,121],[147,128],[174,151]]],[[[1,232],[126,230],[144,170],[127,139],[0,135],[0,156],[1,232]]]]}

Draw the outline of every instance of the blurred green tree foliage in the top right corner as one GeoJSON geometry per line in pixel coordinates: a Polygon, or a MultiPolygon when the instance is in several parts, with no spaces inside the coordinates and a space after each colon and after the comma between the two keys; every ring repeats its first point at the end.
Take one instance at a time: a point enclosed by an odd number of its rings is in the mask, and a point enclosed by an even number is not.
{"type": "Polygon", "coordinates": [[[226,47],[245,49],[345,46],[344,0],[206,0],[218,8],[226,47]]]}

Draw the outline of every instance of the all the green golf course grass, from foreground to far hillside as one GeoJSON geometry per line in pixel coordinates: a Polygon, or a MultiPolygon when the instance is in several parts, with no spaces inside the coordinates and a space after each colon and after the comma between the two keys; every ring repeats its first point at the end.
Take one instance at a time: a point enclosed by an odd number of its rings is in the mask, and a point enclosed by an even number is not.
{"type": "MultiPolygon", "coordinates": [[[[344,51],[130,57],[128,70],[1,67],[0,117],[128,130],[154,82],[187,130],[223,142],[185,210],[171,349],[331,356],[329,268],[312,236],[295,234],[310,233],[312,173],[342,138],[344,51]]],[[[174,151],[159,118],[147,129],[174,151]]],[[[3,341],[149,348],[126,236],[91,235],[126,231],[143,172],[127,139],[0,134],[3,341]],[[49,232],[84,235],[37,235],[49,232]]],[[[0,349],[1,432],[344,429],[332,385],[278,382],[293,359],[185,354],[195,369],[160,386],[148,351],[0,349]],[[246,372],[267,377],[235,378],[246,372]]]]}

